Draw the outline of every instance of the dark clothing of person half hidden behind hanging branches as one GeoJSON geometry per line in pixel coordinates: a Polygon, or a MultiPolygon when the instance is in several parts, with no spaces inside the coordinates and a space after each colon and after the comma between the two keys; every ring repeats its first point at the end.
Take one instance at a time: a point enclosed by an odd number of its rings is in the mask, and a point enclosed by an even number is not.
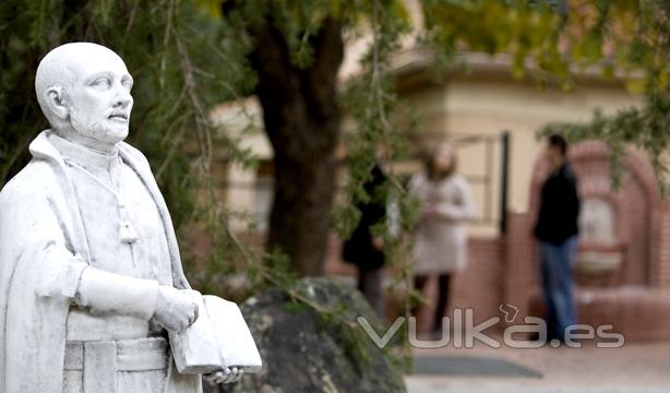
{"type": "Polygon", "coordinates": [[[372,169],[372,178],[368,180],[363,188],[371,200],[368,203],[360,203],[357,207],[361,212],[360,222],[343,248],[343,259],[346,262],[356,264],[362,271],[373,271],[384,264],[384,251],[378,250],[372,245],[372,234],[370,229],[386,216],[386,199],[380,192],[380,186],[386,181],[386,175],[379,165],[372,169]]]}

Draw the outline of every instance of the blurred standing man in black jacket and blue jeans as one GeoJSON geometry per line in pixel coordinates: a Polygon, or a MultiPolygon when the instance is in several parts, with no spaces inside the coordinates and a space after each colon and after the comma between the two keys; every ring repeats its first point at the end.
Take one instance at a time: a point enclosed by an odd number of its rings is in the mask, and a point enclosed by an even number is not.
{"type": "Polygon", "coordinates": [[[576,323],[573,299],[573,261],[577,247],[579,198],[567,162],[567,143],[549,136],[545,151],[550,174],[540,193],[535,236],[540,242],[540,274],[547,305],[547,340],[564,341],[565,329],[576,323]]]}

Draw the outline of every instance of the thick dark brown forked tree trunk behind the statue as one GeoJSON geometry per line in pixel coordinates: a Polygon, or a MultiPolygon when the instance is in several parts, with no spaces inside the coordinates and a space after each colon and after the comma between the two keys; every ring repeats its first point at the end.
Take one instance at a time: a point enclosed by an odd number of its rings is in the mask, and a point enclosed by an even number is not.
{"type": "Polygon", "coordinates": [[[275,154],[267,248],[286,253],[300,275],[320,275],[335,194],[342,25],[324,23],[311,39],[313,62],[304,69],[291,64],[282,33],[270,22],[251,33],[256,40],[250,56],[259,76],[256,94],[275,154]]]}

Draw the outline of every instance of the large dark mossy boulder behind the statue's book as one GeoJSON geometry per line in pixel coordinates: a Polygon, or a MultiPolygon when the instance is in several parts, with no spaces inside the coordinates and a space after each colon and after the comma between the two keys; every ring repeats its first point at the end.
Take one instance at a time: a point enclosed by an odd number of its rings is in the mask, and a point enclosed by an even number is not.
{"type": "Polygon", "coordinates": [[[263,371],[205,391],[406,392],[399,362],[388,349],[379,348],[356,321],[364,315],[381,332],[359,291],[324,277],[303,278],[292,289],[334,313],[320,313],[279,289],[250,298],[241,310],[261,352],[263,371]]]}

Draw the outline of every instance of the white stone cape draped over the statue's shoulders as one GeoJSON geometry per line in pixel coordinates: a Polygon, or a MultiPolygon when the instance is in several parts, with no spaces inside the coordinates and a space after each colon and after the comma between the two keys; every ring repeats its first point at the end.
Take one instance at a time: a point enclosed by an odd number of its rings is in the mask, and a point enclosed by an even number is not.
{"type": "MultiPolygon", "coordinates": [[[[61,260],[89,257],[74,191],[62,157],[48,141],[49,132],[31,143],[33,159],[0,192],[0,391],[5,393],[62,393],[65,322],[76,288],[49,297],[39,297],[37,289],[47,264],[58,261],[58,255],[46,258],[53,243],[71,252],[61,260]]],[[[190,288],[167,206],[146,158],[123,142],[118,150],[160,212],[174,286],[190,288]]]]}

